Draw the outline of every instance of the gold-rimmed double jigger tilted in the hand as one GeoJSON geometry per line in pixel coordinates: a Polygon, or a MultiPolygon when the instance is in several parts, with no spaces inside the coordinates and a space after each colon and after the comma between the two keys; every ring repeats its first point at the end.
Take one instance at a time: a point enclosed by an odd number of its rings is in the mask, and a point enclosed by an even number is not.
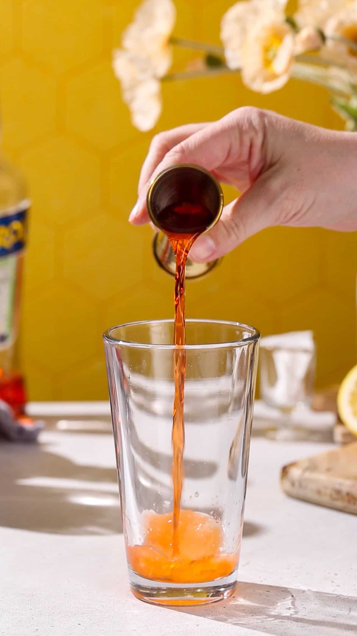
{"type": "MultiPolygon", "coordinates": [[[[212,221],[205,232],[219,220],[223,205],[223,191],[211,172],[191,163],[181,163],[163,170],[153,179],[146,197],[146,207],[153,224],[161,230],[153,237],[153,254],[166,272],[174,275],[175,256],[158,215],[169,205],[192,203],[204,205],[212,214],[212,221]]],[[[183,228],[182,233],[185,233],[183,228]]],[[[186,277],[197,278],[210,272],[221,259],[209,263],[186,262],[186,277]]]]}

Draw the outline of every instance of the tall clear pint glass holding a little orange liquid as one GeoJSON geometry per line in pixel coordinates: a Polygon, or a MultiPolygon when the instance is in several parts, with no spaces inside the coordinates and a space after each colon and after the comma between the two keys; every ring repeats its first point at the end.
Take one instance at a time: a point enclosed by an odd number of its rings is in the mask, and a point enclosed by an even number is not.
{"type": "MultiPolygon", "coordinates": [[[[129,581],[141,600],[203,604],[235,588],[259,333],[186,321],[185,450],[172,538],[173,321],[104,335],[129,581]]],[[[181,347],[182,349],[182,347],[181,347]]]]}

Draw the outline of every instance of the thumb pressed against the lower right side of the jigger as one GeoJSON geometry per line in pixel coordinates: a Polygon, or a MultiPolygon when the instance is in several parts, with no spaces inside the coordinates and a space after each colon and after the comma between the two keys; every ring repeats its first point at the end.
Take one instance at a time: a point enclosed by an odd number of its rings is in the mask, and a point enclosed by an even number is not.
{"type": "Polygon", "coordinates": [[[192,245],[190,259],[204,263],[220,258],[253,234],[276,225],[275,197],[266,185],[268,178],[263,174],[242,197],[224,206],[217,225],[192,245]]]}

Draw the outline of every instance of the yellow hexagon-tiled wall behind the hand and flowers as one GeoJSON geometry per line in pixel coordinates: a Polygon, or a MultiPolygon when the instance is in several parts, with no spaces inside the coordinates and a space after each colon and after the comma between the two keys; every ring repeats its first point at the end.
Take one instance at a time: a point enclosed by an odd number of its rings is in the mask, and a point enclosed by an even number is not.
{"type": "MultiPolygon", "coordinates": [[[[244,104],[342,126],[323,90],[291,81],[263,97],[223,76],[167,83],[157,128],[134,130],[111,51],[136,4],[0,3],[4,148],[33,200],[22,330],[32,399],[105,398],[103,329],[172,315],[172,279],[153,262],[151,230],[127,223],[153,133],[244,104]]],[[[230,4],[176,0],[175,34],[218,43],[230,4]]],[[[189,57],[179,52],[176,66],[189,57]]],[[[356,248],[356,234],[266,230],[188,284],[187,315],[249,322],[263,334],[312,328],[318,385],[338,381],[355,361],[356,248]]]]}

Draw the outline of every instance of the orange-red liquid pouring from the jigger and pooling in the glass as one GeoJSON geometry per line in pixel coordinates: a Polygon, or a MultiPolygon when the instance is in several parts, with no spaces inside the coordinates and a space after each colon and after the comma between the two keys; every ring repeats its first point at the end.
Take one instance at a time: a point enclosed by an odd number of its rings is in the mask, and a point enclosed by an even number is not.
{"type": "Polygon", "coordinates": [[[185,267],[197,237],[211,225],[212,213],[199,204],[170,205],[158,216],[176,256],[174,286],[174,407],[172,411],[173,511],[143,513],[143,544],[128,546],[131,568],[140,576],[170,583],[204,583],[231,574],[238,554],[224,554],[221,523],[209,515],[181,509],[185,446],[185,267]],[[185,227],[185,234],[182,228],[185,227]],[[179,231],[181,230],[181,233],[179,231]]]}

